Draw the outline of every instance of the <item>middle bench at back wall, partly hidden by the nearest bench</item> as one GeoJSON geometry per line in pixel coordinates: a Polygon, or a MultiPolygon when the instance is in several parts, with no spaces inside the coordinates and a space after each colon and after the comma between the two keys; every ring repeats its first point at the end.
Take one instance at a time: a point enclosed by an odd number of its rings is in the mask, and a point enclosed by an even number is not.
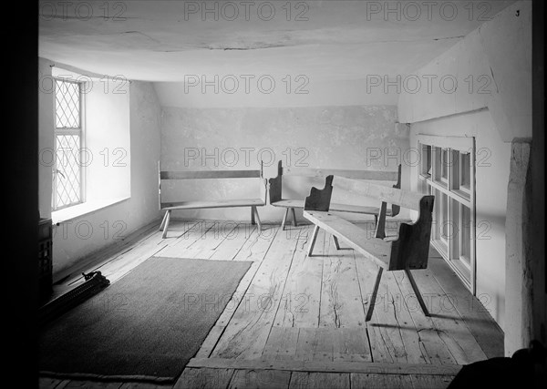
{"type": "MultiPolygon", "coordinates": [[[[284,176],[293,177],[308,177],[308,178],[325,178],[326,176],[333,175],[338,177],[346,177],[347,179],[366,179],[366,180],[381,180],[381,181],[395,181],[394,188],[401,187],[401,166],[398,166],[397,171],[385,171],[385,170],[343,170],[343,169],[312,169],[312,168],[284,168],[282,161],[280,160],[277,165],[277,177],[269,179],[270,182],[270,204],[274,207],[282,207],[285,209],[284,218],[281,222],[281,227],[284,230],[289,210],[293,214],[293,223],[296,227],[296,215],[294,209],[304,209],[304,200],[284,199],[283,192],[283,178],[284,176]]],[[[303,196],[304,197],[304,196],[303,196]]],[[[363,205],[353,204],[330,204],[330,210],[340,212],[361,213],[367,215],[374,215],[375,224],[377,223],[377,207],[367,207],[363,205]]],[[[399,207],[392,205],[390,209],[386,211],[386,216],[397,216],[399,207]]]]}

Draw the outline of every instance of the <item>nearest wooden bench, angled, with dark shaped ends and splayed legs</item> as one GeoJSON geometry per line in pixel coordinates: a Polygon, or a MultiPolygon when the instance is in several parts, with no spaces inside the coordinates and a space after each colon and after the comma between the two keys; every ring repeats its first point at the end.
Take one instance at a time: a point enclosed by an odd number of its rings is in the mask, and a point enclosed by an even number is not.
{"type": "Polygon", "coordinates": [[[323,229],[333,236],[336,249],[340,249],[338,240],[344,241],[367,259],[377,263],[377,279],[366,313],[366,321],[369,321],[372,317],[378,286],[384,269],[387,271],[406,271],[419,305],[424,314],[428,316],[428,308],[418,291],[418,285],[414,281],[410,270],[426,269],[428,267],[429,239],[435,197],[355,179],[336,177],[336,188],[350,190],[358,195],[381,201],[375,233],[367,236],[366,230],[330,212],[329,205],[333,190],[333,179],[333,176],[328,176],[325,179],[324,189],[312,188],[310,195],[306,197],[304,202],[304,218],[315,224],[312,240],[308,247],[308,255],[312,256],[317,232],[319,229],[323,229]],[[408,210],[417,210],[418,220],[414,223],[402,222],[399,225],[397,236],[386,236],[387,203],[397,204],[399,207],[408,210]]]}

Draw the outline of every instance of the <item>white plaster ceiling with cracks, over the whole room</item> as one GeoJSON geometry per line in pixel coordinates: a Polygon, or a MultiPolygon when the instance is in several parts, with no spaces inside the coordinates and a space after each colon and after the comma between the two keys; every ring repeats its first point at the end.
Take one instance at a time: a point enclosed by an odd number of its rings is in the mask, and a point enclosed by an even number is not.
{"type": "Polygon", "coordinates": [[[511,3],[46,1],[39,56],[168,82],[188,74],[408,74],[511,3]]]}

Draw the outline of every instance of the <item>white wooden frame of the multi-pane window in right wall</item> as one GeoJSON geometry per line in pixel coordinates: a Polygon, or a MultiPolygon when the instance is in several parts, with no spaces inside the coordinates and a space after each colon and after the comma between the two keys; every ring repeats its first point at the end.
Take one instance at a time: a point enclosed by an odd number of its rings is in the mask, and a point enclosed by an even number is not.
{"type": "MultiPolygon", "coordinates": [[[[433,136],[427,134],[418,134],[418,150],[420,152],[421,164],[418,168],[418,189],[424,193],[441,194],[441,198],[436,196],[434,212],[433,212],[433,231],[431,234],[431,245],[439,251],[450,268],[459,276],[459,279],[466,285],[470,292],[475,295],[477,292],[477,264],[476,264],[476,167],[475,156],[476,146],[474,137],[449,137],[449,136],[433,136]],[[428,148],[429,147],[429,148],[428,148]],[[447,155],[458,156],[458,163],[449,165],[448,179],[441,177],[441,172],[438,171],[443,161],[442,157],[436,160],[436,150],[439,149],[439,155],[442,155],[442,150],[447,150],[447,155]],[[425,153],[429,152],[429,156],[425,153]],[[452,154],[454,152],[454,154],[452,154]],[[458,154],[455,154],[458,153],[458,154]],[[470,188],[460,186],[461,175],[461,154],[470,156],[470,188]],[[429,158],[429,159],[428,159],[429,158]],[[424,163],[430,163],[430,167],[424,166],[424,163]],[[430,173],[430,174],[428,174],[430,173]],[[456,183],[456,180],[458,181],[456,183]],[[441,207],[443,199],[448,201],[448,211],[444,218],[454,221],[451,227],[458,228],[459,231],[469,228],[470,241],[463,241],[463,233],[458,233],[457,237],[453,234],[442,235],[442,227],[439,225],[438,211],[441,207]],[[470,226],[466,227],[463,223],[463,207],[470,210],[470,226]],[[440,238],[440,239],[439,239],[440,238]],[[446,246],[445,246],[446,243],[446,246]],[[470,258],[461,255],[464,246],[470,245],[470,258]],[[443,247],[445,246],[445,247],[443,247]],[[469,264],[467,263],[469,261],[469,264]]],[[[453,232],[453,230],[452,230],[453,232]]]]}

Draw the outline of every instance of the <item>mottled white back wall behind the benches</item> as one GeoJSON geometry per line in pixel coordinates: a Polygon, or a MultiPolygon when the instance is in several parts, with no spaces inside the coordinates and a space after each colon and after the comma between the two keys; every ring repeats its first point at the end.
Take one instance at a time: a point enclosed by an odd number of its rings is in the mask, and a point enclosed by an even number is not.
{"type": "MultiPolygon", "coordinates": [[[[396,170],[408,149],[408,128],[396,124],[395,106],[163,107],[162,118],[163,170],[259,169],[260,159],[265,178],[277,175],[280,159],[291,167],[396,170]]],[[[402,174],[406,184],[408,170],[402,174]]],[[[207,180],[166,181],[162,197],[175,201],[258,195],[257,184],[249,185],[249,179],[203,181],[207,180]]],[[[287,178],[284,197],[304,200],[312,186],[324,185],[325,179],[287,178]]],[[[362,201],[336,189],[335,200],[362,201]]],[[[374,200],[367,204],[379,206],[374,200]]],[[[261,219],[275,222],[282,220],[283,212],[270,205],[259,209],[261,219]]],[[[250,211],[188,210],[175,212],[173,217],[249,220],[250,211]]],[[[297,217],[301,218],[300,213],[297,217]]]]}

